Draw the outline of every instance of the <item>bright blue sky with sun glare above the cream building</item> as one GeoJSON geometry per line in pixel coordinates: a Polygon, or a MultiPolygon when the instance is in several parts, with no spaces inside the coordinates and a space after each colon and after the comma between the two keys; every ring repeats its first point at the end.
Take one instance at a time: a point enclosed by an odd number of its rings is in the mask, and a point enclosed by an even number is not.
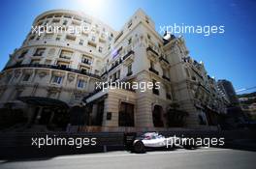
{"type": "Polygon", "coordinates": [[[160,26],[174,23],[224,25],[224,34],[183,35],[190,55],[205,63],[210,76],[232,81],[237,90],[256,86],[256,1],[253,0],[3,0],[0,69],[23,42],[34,18],[48,10],[81,11],[120,30],[139,8],[154,20],[157,31],[160,26]]]}

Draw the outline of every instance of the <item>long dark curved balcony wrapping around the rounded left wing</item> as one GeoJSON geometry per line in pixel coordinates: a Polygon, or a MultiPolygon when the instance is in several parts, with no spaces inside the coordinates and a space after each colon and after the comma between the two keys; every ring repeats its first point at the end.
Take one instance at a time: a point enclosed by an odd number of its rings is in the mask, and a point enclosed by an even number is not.
{"type": "Polygon", "coordinates": [[[23,65],[15,65],[15,66],[11,66],[11,67],[6,67],[6,68],[4,68],[4,70],[11,70],[11,69],[16,69],[16,68],[45,68],[45,69],[53,69],[53,70],[66,70],[66,71],[76,72],[76,73],[80,73],[83,75],[88,75],[88,76],[100,79],[99,75],[96,75],[96,74],[93,74],[90,72],[86,72],[83,70],[75,70],[75,69],[61,67],[61,66],[57,66],[57,65],[23,64],[23,65]]]}

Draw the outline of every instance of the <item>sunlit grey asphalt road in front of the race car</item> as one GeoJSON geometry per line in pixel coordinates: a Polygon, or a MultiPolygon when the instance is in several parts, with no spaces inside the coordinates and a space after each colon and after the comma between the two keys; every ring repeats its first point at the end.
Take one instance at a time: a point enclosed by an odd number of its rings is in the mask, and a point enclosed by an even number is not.
{"type": "Polygon", "coordinates": [[[61,155],[52,158],[0,160],[1,169],[247,169],[255,168],[256,152],[231,149],[201,148],[197,150],[161,151],[130,154],[125,151],[61,155]]]}

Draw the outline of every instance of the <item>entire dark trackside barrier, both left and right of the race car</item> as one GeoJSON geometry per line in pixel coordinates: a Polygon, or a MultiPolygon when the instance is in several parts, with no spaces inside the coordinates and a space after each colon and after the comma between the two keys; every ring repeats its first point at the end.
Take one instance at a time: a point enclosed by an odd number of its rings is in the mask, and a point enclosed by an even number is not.
{"type": "MultiPolygon", "coordinates": [[[[198,129],[175,129],[168,131],[159,131],[165,136],[183,136],[183,137],[224,137],[225,141],[236,139],[254,139],[256,140],[255,130],[198,130],[198,129]]],[[[137,132],[137,134],[141,134],[137,132]]],[[[17,157],[35,157],[54,156],[54,155],[71,155],[106,152],[110,150],[123,150],[124,132],[40,132],[40,133],[0,133],[0,159],[17,158],[17,157]],[[31,146],[32,137],[72,137],[72,138],[97,138],[95,146],[44,146],[39,149],[31,146]],[[114,148],[114,149],[113,149],[114,148]]]]}

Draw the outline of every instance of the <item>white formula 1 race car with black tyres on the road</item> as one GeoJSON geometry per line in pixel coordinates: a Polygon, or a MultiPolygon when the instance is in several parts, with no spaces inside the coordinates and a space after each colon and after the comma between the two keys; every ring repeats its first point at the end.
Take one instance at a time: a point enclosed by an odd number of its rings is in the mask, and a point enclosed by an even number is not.
{"type": "Polygon", "coordinates": [[[176,147],[193,149],[194,145],[187,144],[186,138],[165,137],[157,132],[145,132],[137,136],[136,133],[126,133],[124,136],[125,149],[137,154],[145,153],[146,150],[173,150],[176,147]]]}

